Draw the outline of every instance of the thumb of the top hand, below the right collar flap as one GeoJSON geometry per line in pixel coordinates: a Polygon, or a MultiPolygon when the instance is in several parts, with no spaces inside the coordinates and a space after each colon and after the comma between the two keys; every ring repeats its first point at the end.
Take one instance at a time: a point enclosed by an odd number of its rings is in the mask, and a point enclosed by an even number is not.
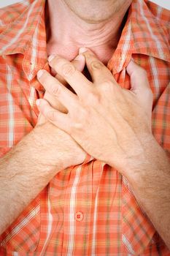
{"type": "Polygon", "coordinates": [[[142,93],[144,89],[150,89],[147,72],[142,67],[131,60],[126,70],[131,78],[131,91],[139,94],[142,93]]]}

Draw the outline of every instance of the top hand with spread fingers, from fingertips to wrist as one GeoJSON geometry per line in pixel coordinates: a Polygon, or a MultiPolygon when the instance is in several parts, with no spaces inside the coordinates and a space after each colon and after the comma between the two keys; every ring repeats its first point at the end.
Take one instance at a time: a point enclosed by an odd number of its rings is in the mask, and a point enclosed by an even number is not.
{"type": "Polygon", "coordinates": [[[127,167],[130,169],[131,164],[143,160],[142,144],[153,139],[152,91],[146,72],[131,61],[127,68],[131,76],[129,91],[117,85],[109,69],[90,50],[83,55],[93,82],[72,63],[56,56],[50,61],[50,66],[77,95],[44,71],[39,81],[67,108],[68,113],[55,110],[45,100],[39,100],[39,110],[45,118],[71,135],[88,154],[123,173],[127,167]]]}

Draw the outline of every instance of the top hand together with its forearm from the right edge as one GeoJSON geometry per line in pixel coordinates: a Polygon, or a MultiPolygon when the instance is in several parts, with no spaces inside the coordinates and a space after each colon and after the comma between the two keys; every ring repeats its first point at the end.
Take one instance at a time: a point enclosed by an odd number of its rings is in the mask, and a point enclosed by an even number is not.
{"type": "Polygon", "coordinates": [[[39,110],[88,154],[115,167],[128,179],[137,200],[170,248],[170,165],[152,135],[152,91],[147,73],[131,61],[127,67],[131,90],[121,89],[109,69],[90,50],[82,50],[93,81],[66,59],[53,56],[50,66],[76,94],[42,70],[39,81],[68,112],[55,110],[45,99],[37,101],[39,110]]]}

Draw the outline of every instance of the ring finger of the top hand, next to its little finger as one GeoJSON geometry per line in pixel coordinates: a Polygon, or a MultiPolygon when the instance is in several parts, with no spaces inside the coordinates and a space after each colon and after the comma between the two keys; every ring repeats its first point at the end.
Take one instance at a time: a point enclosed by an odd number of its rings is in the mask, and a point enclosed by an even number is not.
{"type": "Polygon", "coordinates": [[[69,91],[65,86],[63,86],[56,78],[50,75],[46,70],[40,70],[37,74],[39,82],[42,86],[58,99],[68,110],[72,110],[77,105],[77,95],[69,91]]]}

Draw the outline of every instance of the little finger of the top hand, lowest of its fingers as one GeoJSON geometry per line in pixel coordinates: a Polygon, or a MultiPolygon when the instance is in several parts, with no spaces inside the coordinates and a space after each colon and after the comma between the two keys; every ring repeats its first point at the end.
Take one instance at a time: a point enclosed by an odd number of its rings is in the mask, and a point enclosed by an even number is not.
{"type": "Polygon", "coordinates": [[[45,118],[56,127],[63,129],[65,132],[69,132],[69,116],[65,113],[61,113],[50,106],[45,99],[37,99],[36,105],[39,108],[39,112],[42,113],[45,118]]]}

